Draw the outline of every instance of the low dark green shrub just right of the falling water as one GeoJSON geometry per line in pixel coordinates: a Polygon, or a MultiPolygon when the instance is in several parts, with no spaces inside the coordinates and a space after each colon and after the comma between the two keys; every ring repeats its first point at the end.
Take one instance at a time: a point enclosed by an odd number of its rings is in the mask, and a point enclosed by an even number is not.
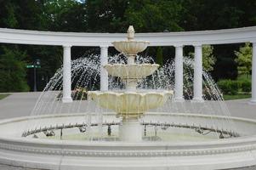
{"type": "Polygon", "coordinates": [[[238,93],[240,87],[240,82],[236,80],[220,80],[218,86],[221,89],[223,94],[232,94],[235,95],[238,93]]]}

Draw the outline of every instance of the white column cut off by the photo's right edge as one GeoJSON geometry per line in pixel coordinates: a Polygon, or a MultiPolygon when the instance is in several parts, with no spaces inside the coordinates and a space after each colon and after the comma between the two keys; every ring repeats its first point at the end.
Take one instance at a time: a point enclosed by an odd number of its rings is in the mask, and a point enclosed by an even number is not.
{"type": "Polygon", "coordinates": [[[253,42],[253,59],[252,59],[252,99],[251,104],[256,104],[256,42],[253,42]]]}

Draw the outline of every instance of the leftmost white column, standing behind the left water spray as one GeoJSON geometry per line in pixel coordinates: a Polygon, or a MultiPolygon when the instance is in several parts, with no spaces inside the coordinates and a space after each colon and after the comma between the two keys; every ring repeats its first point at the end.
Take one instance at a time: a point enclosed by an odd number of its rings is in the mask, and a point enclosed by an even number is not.
{"type": "Polygon", "coordinates": [[[72,102],[71,98],[71,46],[63,46],[63,103],[72,102]]]}

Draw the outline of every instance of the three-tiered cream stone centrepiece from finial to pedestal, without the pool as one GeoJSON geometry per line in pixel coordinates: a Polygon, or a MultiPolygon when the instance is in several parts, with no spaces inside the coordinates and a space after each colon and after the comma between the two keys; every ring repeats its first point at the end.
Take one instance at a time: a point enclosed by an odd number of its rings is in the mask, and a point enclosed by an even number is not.
{"type": "Polygon", "coordinates": [[[120,77],[126,84],[125,91],[91,91],[90,97],[101,107],[117,112],[122,116],[119,127],[119,138],[122,141],[139,142],[142,139],[139,117],[149,109],[162,106],[170,96],[172,90],[141,91],[137,90],[137,82],[148,77],[157,70],[156,64],[135,64],[136,54],[145,50],[149,42],[134,40],[134,27],[128,27],[128,40],[112,42],[117,51],[128,57],[128,65],[104,65],[112,77],[120,77]]]}

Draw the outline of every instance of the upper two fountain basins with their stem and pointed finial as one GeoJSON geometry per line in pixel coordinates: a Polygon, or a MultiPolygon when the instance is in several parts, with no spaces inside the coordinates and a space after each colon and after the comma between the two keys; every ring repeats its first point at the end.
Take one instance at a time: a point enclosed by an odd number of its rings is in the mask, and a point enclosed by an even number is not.
{"type": "Polygon", "coordinates": [[[127,89],[136,89],[139,79],[153,74],[159,65],[134,64],[136,54],[145,50],[150,42],[134,40],[134,26],[128,27],[128,40],[112,42],[117,51],[128,57],[128,65],[114,64],[104,65],[104,68],[112,77],[120,77],[126,82],[127,89]]]}

